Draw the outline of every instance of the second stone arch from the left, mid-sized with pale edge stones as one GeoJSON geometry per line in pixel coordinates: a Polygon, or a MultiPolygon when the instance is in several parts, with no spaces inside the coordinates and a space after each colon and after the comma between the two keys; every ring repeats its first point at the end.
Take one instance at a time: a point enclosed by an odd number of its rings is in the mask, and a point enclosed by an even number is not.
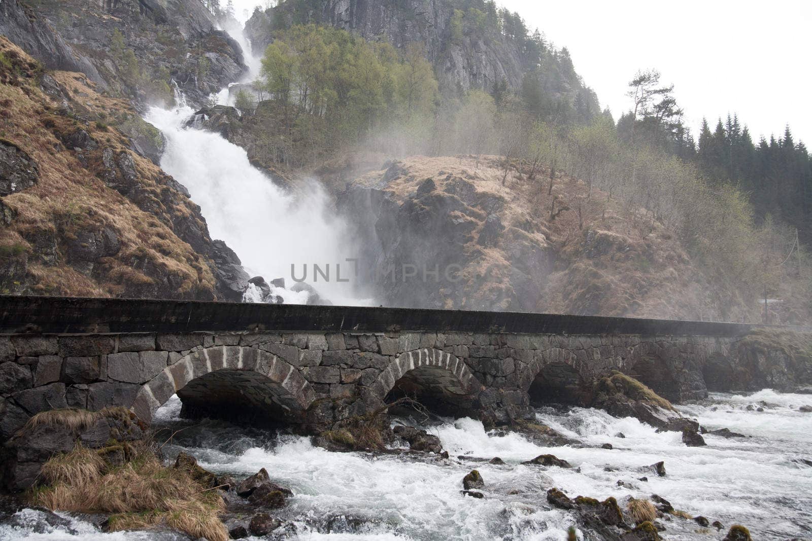
{"type": "Polygon", "coordinates": [[[400,392],[416,396],[430,410],[449,414],[473,410],[482,389],[462,359],[433,348],[400,354],[372,385],[373,393],[381,401],[400,392]]]}

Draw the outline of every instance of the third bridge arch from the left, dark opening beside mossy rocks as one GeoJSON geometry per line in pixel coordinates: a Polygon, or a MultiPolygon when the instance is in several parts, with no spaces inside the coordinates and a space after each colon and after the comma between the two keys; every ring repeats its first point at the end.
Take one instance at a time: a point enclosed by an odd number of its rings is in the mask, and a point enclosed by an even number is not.
{"type": "Polygon", "coordinates": [[[566,350],[544,359],[533,359],[520,377],[520,389],[531,402],[588,406],[592,381],[585,363],[566,350]]]}

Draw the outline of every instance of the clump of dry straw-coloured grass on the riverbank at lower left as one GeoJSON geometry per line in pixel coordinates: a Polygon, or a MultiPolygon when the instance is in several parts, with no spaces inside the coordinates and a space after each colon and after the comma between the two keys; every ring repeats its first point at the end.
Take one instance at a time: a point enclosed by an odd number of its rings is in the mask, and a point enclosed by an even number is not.
{"type": "Polygon", "coordinates": [[[226,541],[219,519],[225,509],[217,491],[198,483],[184,468],[171,468],[145,445],[132,459],[110,467],[96,451],[77,446],[43,467],[50,483],[31,495],[32,505],[73,513],[111,513],[111,530],[166,525],[194,538],[226,541]]]}

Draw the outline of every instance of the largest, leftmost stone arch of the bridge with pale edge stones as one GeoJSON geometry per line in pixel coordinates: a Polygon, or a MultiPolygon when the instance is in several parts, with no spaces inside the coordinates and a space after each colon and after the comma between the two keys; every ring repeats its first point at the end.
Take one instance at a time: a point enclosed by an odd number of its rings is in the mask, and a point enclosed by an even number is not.
{"type": "MultiPolygon", "coordinates": [[[[175,393],[181,400],[185,394],[185,401],[203,409],[233,402],[231,406],[240,404],[255,414],[276,418],[269,420],[287,422],[299,419],[316,398],[313,387],[296,367],[249,346],[209,346],[192,351],[145,383],[132,410],[139,419],[151,423],[155,411],[175,393]]],[[[236,413],[246,412],[239,409],[236,413]]]]}

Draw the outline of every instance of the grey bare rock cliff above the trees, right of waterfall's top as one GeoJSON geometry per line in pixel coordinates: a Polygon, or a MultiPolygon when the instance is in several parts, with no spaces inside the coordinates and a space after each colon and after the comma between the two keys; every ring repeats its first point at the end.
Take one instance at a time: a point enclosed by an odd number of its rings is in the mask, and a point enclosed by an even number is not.
{"type": "Polygon", "coordinates": [[[448,0],[321,0],[309,5],[313,8],[305,10],[300,3],[282,2],[267,11],[254,11],[245,26],[254,49],[265,49],[273,40],[274,28],[312,22],[356,32],[369,41],[386,39],[398,48],[424,43],[441,88],[491,90],[504,81],[516,89],[525,71],[533,67],[520,43],[498,32],[452,38],[455,8],[448,0]]]}

